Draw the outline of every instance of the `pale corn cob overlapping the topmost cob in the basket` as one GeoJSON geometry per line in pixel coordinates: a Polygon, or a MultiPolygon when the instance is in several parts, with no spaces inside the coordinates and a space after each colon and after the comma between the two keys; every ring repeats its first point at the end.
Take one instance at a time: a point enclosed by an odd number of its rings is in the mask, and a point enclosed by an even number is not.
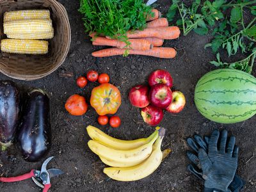
{"type": "Polygon", "coordinates": [[[4,34],[47,33],[52,30],[52,20],[15,20],[4,22],[4,34]]]}

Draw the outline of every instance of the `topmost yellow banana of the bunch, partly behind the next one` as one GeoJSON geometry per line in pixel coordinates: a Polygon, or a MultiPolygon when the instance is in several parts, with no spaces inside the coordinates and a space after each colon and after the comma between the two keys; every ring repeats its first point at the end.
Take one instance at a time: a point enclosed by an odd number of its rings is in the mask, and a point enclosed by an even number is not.
{"type": "Polygon", "coordinates": [[[113,137],[109,136],[108,134],[100,131],[100,129],[93,127],[92,125],[89,125],[88,127],[86,127],[86,130],[87,130],[90,138],[92,138],[92,140],[100,141],[100,143],[102,143],[108,147],[120,149],[120,150],[129,150],[132,148],[138,148],[141,145],[145,145],[150,140],[152,140],[152,138],[154,138],[154,136],[156,136],[156,134],[158,132],[156,130],[148,138],[141,138],[138,140],[126,141],[126,140],[118,140],[116,138],[113,138],[113,137]]]}

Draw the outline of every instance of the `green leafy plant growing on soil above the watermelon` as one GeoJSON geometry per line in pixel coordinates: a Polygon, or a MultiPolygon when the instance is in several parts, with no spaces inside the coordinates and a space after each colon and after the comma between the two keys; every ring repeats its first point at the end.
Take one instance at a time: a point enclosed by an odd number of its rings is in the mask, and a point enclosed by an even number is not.
{"type": "Polygon", "coordinates": [[[253,17],[246,25],[244,22],[244,10],[250,10],[250,14],[256,15],[256,1],[237,0],[227,1],[215,0],[204,1],[195,0],[191,6],[173,0],[168,12],[168,20],[173,21],[175,15],[179,13],[177,25],[183,30],[184,35],[190,31],[195,31],[199,35],[211,33],[213,36],[211,43],[206,47],[211,47],[213,52],[225,49],[228,56],[235,55],[237,51],[252,52],[244,60],[234,63],[222,63],[220,53],[217,53],[217,61],[211,61],[218,67],[231,67],[246,72],[252,72],[255,52],[252,51],[256,42],[256,17],[253,17]]]}

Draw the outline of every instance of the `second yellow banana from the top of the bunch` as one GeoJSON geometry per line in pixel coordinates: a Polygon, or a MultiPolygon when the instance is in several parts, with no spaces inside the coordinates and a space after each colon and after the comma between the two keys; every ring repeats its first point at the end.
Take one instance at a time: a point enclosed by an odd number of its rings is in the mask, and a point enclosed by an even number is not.
{"type": "Polygon", "coordinates": [[[104,159],[123,163],[132,163],[143,161],[144,159],[147,159],[148,156],[150,156],[152,152],[152,145],[156,141],[157,137],[158,132],[154,136],[154,138],[149,141],[149,143],[130,150],[119,150],[115,148],[110,148],[100,143],[99,141],[94,140],[88,141],[88,146],[95,154],[103,157],[104,159]]]}

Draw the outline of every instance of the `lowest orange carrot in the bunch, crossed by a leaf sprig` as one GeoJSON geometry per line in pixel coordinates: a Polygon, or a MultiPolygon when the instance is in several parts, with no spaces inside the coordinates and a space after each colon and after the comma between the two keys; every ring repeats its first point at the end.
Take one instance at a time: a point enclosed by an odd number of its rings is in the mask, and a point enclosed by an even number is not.
{"type": "MultiPolygon", "coordinates": [[[[125,49],[118,49],[118,48],[109,48],[109,49],[102,49],[100,51],[95,51],[92,53],[92,56],[95,57],[108,57],[108,56],[115,56],[115,55],[122,55],[125,53],[125,49]]],[[[177,52],[175,49],[171,47],[153,47],[148,51],[140,51],[140,50],[129,50],[129,54],[140,54],[145,56],[153,56],[156,58],[175,58],[177,52]]]]}

